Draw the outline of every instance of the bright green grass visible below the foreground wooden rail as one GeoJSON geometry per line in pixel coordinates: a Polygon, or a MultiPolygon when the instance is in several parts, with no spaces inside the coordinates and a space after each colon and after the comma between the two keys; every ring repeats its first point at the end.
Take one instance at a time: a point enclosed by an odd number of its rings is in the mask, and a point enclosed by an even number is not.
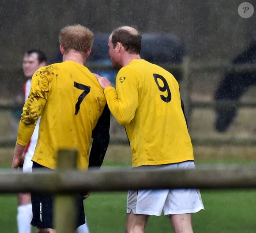
{"type": "MultiPolygon", "coordinates": [[[[254,233],[256,190],[201,190],[204,211],[193,215],[194,232],[254,233]]],[[[125,224],[126,192],[95,192],[84,201],[90,233],[121,233],[125,224]]],[[[0,232],[16,233],[16,196],[0,195],[0,232]]],[[[150,217],[146,233],[170,231],[169,219],[150,217]]],[[[33,231],[34,233],[35,231],[33,231]]]]}

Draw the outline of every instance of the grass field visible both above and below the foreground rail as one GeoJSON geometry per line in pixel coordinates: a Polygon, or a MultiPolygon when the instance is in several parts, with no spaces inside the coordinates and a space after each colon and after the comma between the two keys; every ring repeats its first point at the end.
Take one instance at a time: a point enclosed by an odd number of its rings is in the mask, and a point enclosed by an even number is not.
{"type": "MultiPolygon", "coordinates": [[[[0,150],[0,165],[8,168],[13,148],[0,150]]],[[[112,145],[103,166],[130,166],[128,146],[112,145]]],[[[195,148],[197,164],[253,164],[255,148],[195,148]]],[[[193,215],[196,233],[255,233],[256,189],[201,190],[205,210],[193,215]]],[[[126,192],[92,192],[84,201],[90,233],[124,232],[126,192]]],[[[0,233],[17,233],[15,194],[0,194],[0,233]]],[[[173,232],[168,218],[151,217],[146,233],[173,232]]],[[[35,233],[35,229],[33,229],[35,233]]]]}

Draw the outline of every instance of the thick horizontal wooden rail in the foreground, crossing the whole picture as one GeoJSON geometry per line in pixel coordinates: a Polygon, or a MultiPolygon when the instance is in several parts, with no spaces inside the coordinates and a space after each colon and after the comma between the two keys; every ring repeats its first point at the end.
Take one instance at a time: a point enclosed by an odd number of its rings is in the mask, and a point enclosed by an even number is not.
{"type": "Polygon", "coordinates": [[[256,188],[256,166],[199,166],[189,170],[0,171],[0,192],[83,193],[128,189],[256,188]]]}

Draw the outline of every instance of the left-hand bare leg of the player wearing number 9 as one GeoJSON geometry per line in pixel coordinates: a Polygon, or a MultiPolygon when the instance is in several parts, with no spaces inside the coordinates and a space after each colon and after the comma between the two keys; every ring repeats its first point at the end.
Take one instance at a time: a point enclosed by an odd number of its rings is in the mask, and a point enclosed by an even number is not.
{"type": "Polygon", "coordinates": [[[135,215],[131,213],[126,217],[126,233],[144,233],[147,224],[148,215],[135,215]]]}

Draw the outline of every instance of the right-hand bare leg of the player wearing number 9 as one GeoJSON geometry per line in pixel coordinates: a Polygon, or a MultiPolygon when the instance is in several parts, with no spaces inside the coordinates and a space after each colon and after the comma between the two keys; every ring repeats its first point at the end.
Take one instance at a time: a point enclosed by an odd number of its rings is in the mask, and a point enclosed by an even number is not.
{"type": "Polygon", "coordinates": [[[193,233],[192,214],[170,215],[175,233],[193,233]]]}

